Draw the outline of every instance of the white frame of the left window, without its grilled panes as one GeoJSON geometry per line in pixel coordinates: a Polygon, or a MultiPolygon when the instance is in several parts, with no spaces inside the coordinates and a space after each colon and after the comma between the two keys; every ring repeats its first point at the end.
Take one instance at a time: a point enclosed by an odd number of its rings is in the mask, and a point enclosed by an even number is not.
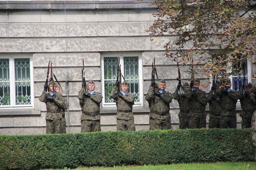
{"type": "Polygon", "coordinates": [[[1,109],[19,109],[19,108],[34,108],[34,76],[33,76],[33,56],[30,54],[0,54],[0,58],[9,59],[9,74],[10,74],[10,105],[0,105],[1,109]],[[15,90],[15,58],[29,58],[30,60],[30,95],[31,104],[16,105],[16,90],[15,90]]]}

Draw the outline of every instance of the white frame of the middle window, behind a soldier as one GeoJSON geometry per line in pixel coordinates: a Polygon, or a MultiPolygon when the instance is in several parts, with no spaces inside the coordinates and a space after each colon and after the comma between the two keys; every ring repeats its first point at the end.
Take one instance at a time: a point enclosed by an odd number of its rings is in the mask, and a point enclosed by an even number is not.
{"type": "MultiPolygon", "coordinates": [[[[124,73],[124,60],[123,57],[138,57],[138,72],[139,72],[139,101],[140,102],[135,102],[134,106],[143,106],[143,70],[142,70],[142,53],[141,52],[115,52],[115,53],[101,53],[100,57],[100,63],[101,63],[101,93],[102,96],[105,96],[105,87],[104,87],[104,58],[105,57],[120,57],[120,63],[121,63],[121,70],[122,73],[124,73]]],[[[123,79],[122,79],[123,80],[123,79]]],[[[130,92],[130,90],[128,90],[130,92]]],[[[105,100],[102,100],[102,106],[108,107],[108,106],[115,106],[116,103],[105,103],[105,100]]]]}

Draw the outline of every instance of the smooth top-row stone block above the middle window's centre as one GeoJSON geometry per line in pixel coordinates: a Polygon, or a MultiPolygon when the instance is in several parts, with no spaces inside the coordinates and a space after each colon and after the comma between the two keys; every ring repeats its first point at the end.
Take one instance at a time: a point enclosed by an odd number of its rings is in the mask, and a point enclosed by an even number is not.
{"type": "Polygon", "coordinates": [[[108,22],[129,21],[128,10],[108,11],[108,22]]]}

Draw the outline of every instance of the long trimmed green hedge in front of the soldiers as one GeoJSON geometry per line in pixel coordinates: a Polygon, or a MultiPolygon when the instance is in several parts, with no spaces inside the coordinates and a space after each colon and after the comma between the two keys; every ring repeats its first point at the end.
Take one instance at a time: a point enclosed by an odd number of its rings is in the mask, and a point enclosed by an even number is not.
{"type": "Polygon", "coordinates": [[[0,135],[0,170],[254,161],[250,129],[0,135]]]}

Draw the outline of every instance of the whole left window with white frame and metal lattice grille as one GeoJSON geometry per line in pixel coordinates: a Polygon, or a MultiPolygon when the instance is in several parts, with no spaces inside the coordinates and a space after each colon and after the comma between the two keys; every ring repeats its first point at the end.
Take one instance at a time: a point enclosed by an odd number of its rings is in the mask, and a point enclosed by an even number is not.
{"type": "Polygon", "coordinates": [[[0,107],[33,106],[32,57],[0,55],[0,107]]]}

